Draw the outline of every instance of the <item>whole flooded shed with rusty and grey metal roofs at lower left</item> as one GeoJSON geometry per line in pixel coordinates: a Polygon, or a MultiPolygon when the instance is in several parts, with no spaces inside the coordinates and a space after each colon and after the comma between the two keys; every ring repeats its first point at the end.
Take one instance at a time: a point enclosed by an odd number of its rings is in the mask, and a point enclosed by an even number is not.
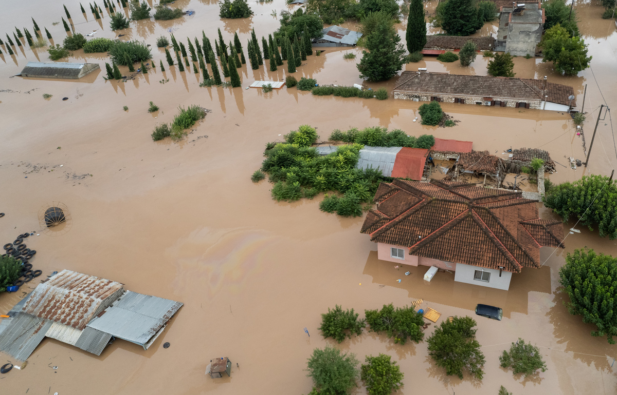
{"type": "Polygon", "coordinates": [[[45,337],[95,355],[113,338],[147,349],[182,305],[63,270],[37,285],[0,322],[0,351],[25,361],[45,337]]]}

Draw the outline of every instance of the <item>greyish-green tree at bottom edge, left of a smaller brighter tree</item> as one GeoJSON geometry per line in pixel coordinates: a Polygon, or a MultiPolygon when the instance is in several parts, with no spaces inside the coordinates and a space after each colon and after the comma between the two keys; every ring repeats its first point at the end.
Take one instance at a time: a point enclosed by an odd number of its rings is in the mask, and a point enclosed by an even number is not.
{"type": "Polygon", "coordinates": [[[353,353],[341,354],[341,350],[327,346],[315,348],[307,362],[307,377],[313,379],[314,393],[348,395],[357,386],[358,363],[353,353]]]}

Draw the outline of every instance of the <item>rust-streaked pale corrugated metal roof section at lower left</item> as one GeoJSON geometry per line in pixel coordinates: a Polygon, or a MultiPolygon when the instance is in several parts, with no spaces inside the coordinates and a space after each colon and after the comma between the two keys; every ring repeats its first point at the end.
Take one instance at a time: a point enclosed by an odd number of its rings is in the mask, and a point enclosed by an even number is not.
{"type": "Polygon", "coordinates": [[[22,311],[81,330],[123,290],[119,282],[63,270],[37,285],[22,311]]]}

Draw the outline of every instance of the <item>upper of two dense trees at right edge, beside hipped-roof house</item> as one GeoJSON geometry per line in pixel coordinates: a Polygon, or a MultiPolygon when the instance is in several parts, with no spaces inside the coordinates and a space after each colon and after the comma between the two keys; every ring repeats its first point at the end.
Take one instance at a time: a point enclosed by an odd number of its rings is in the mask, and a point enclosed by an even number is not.
{"type": "Polygon", "coordinates": [[[573,183],[562,183],[544,196],[544,205],[555,210],[566,222],[574,215],[582,225],[597,225],[600,237],[617,239],[617,181],[601,175],[583,176],[573,183]]]}

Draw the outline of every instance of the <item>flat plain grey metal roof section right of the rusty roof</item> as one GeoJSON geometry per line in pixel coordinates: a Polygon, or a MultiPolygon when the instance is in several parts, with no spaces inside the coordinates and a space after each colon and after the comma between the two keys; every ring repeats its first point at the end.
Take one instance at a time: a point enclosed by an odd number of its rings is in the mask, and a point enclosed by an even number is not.
{"type": "Polygon", "coordinates": [[[182,305],[178,301],[128,291],[87,326],[145,347],[182,305]]]}

